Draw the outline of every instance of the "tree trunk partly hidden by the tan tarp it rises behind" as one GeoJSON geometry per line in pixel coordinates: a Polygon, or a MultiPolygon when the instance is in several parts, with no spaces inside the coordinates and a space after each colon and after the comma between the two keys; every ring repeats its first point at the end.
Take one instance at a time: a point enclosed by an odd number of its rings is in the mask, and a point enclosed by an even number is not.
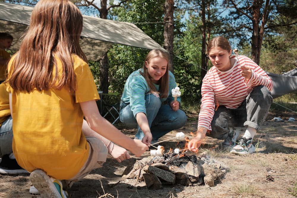
{"type": "MultiPolygon", "coordinates": [[[[107,19],[107,0],[101,0],[100,18],[107,19]]],[[[108,93],[108,58],[107,53],[100,60],[100,90],[108,93]]]]}

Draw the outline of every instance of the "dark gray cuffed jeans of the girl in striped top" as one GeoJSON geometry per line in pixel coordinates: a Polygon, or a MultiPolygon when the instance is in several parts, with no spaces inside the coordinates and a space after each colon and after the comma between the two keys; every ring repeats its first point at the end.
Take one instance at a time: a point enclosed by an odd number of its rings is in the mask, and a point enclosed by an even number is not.
{"type": "Polygon", "coordinates": [[[259,85],[247,96],[246,100],[236,109],[219,106],[211,121],[212,131],[207,134],[225,140],[230,132],[229,127],[251,127],[259,130],[273,102],[267,87],[259,85]]]}

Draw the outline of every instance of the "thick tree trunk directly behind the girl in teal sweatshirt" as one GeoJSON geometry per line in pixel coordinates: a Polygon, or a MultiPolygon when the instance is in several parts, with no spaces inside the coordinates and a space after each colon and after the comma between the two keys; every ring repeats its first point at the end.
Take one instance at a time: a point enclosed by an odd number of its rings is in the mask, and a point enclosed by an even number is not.
{"type": "Polygon", "coordinates": [[[164,13],[164,48],[168,51],[169,64],[171,67],[169,70],[173,73],[173,0],[165,1],[165,13],[164,13]]]}

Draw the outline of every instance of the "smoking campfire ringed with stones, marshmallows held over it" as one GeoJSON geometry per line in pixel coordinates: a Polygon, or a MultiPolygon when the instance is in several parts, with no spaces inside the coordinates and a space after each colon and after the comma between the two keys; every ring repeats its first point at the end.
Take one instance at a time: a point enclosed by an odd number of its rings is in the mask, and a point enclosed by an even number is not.
{"type": "MultiPolygon", "coordinates": [[[[181,133],[176,135],[180,140],[178,137],[189,141],[181,133]]],[[[151,150],[151,156],[136,161],[133,167],[127,167],[122,177],[136,178],[136,183],[145,182],[149,189],[162,189],[162,185],[174,184],[214,186],[215,181],[225,175],[224,164],[211,159],[207,153],[198,156],[187,151],[187,143],[182,150],[170,148],[164,152],[163,146],[156,148],[151,150]]]]}

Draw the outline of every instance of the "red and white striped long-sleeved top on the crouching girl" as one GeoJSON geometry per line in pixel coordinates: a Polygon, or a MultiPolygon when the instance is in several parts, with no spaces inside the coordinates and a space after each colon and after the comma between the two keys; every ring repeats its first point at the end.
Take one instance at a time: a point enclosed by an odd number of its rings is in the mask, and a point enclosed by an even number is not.
{"type": "Polygon", "coordinates": [[[221,72],[213,66],[203,78],[198,127],[203,126],[211,131],[211,121],[216,105],[236,109],[258,85],[264,85],[272,91],[272,81],[260,66],[246,56],[238,56],[240,65],[248,66],[252,70],[251,79],[246,80],[240,75],[241,69],[238,69],[237,58],[235,60],[232,69],[221,72]]]}

